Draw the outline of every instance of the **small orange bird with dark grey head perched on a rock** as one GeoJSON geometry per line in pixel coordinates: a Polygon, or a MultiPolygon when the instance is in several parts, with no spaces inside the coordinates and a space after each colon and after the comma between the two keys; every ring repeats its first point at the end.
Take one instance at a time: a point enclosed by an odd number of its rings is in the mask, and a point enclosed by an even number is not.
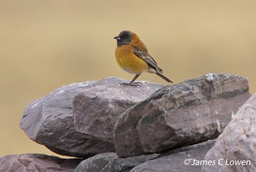
{"type": "Polygon", "coordinates": [[[115,50],[117,63],[128,73],[135,74],[130,83],[121,83],[122,85],[138,85],[138,82],[134,83],[134,81],[143,72],[156,73],[166,82],[172,82],[163,75],[163,70],[157,66],[156,61],[148,54],[147,47],[134,32],[122,31],[114,38],[117,40],[115,50]]]}

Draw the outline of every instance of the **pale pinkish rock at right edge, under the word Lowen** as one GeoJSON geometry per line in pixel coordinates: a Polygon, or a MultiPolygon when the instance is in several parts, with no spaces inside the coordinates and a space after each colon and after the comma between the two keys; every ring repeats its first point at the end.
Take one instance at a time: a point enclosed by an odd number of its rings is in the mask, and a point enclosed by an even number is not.
{"type": "Polygon", "coordinates": [[[237,111],[205,160],[215,161],[216,165],[203,166],[202,171],[255,171],[256,94],[237,111]]]}

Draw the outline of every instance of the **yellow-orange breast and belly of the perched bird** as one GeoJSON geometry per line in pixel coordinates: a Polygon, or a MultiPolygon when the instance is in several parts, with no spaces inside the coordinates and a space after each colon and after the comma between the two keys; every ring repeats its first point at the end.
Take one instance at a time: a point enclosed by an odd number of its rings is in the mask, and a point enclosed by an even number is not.
{"type": "Polygon", "coordinates": [[[133,53],[131,45],[116,47],[115,56],[119,66],[128,73],[143,73],[148,69],[148,64],[133,53]]]}

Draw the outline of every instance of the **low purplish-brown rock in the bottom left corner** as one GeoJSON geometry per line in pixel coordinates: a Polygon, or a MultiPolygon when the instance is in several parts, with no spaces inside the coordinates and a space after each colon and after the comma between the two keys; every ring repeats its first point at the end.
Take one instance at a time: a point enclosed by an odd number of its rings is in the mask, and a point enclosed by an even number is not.
{"type": "Polygon", "coordinates": [[[81,162],[81,159],[61,159],[43,154],[6,155],[0,157],[0,172],[71,172],[81,162]]]}

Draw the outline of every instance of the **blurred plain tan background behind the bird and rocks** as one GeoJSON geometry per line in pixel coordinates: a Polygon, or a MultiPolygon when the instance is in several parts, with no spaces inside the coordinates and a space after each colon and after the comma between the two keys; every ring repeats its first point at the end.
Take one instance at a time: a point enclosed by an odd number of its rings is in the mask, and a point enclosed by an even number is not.
{"type": "Polygon", "coordinates": [[[136,32],[175,83],[232,73],[254,93],[255,9],[256,1],[0,1],[0,156],[56,155],[19,129],[27,104],[74,82],[133,78],[115,61],[122,30],[136,32]]]}

